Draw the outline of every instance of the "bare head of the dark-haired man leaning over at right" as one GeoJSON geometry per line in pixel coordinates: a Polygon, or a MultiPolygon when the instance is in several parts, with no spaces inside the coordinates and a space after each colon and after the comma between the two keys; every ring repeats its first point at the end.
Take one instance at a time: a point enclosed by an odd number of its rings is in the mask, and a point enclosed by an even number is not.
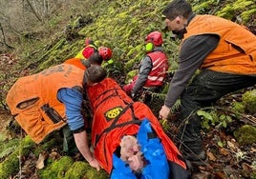
{"type": "Polygon", "coordinates": [[[187,25],[187,18],[192,13],[192,8],[185,0],[173,0],[162,11],[168,30],[179,32],[187,25]]]}

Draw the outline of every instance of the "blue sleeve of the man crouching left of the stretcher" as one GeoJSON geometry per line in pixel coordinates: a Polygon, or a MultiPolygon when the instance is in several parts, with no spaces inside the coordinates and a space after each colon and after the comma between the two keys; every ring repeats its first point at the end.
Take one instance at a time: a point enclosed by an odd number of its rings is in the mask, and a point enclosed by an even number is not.
{"type": "Polygon", "coordinates": [[[81,113],[83,95],[76,89],[59,89],[57,98],[65,105],[68,125],[71,130],[84,127],[84,119],[81,113]]]}

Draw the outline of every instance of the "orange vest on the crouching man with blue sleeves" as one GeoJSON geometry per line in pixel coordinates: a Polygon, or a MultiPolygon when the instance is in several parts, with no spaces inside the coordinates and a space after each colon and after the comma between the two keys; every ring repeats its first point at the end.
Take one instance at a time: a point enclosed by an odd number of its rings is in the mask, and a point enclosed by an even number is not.
{"type": "Polygon", "coordinates": [[[19,78],[7,95],[11,114],[36,143],[66,124],[65,107],[57,100],[62,88],[82,88],[84,70],[61,64],[19,78]]]}

